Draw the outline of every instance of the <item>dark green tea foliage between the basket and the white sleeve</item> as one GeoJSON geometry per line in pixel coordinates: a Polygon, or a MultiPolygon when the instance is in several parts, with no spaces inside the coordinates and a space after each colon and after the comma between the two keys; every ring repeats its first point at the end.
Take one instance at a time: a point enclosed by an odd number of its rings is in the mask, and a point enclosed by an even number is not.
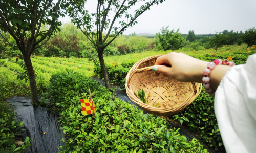
{"type": "Polygon", "coordinates": [[[199,138],[218,150],[223,144],[217,119],[214,111],[214,98],[210,97],[204,89],[200,95],[173,119],[187,125],[190,130],[199,134],[199,138]]]}

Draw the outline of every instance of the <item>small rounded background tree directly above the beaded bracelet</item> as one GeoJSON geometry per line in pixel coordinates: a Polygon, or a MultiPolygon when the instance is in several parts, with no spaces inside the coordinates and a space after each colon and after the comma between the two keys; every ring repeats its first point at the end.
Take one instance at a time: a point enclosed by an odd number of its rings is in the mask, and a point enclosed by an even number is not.
{"type": "Polygon", "coordinates": [[[223,34],[221,32],[215,32],[215,36],[210,38],[210,45],[211,47],[215,48],[215,53],[217,52],[217,49],[222,46],[226,45],[227,41],[229,40],[229,36],[226,34],[223,34]]]}

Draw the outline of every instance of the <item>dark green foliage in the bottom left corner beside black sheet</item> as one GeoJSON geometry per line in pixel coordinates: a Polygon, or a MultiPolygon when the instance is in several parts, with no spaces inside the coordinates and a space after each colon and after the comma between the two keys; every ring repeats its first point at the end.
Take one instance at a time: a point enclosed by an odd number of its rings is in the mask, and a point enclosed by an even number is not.
{"type": "Polygon", "coordinates": [[[15,136],[20,135],[18,130],[24,122],[14,121],[15,114],[8,107],[8,103],[0,100],[0,152],[26,152],[26,148],[31,146],[29,137],[26,137],[25,144],[17,146],[14,143],[15,136]]]}

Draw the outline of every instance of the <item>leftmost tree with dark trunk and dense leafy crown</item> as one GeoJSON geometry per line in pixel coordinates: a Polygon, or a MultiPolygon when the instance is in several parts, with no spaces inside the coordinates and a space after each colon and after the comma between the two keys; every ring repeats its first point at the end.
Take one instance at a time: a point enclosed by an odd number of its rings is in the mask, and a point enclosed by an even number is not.
{"type": "MultiPolygon", "coordinates": [[[[61,23],[58,17],[60,2],[52,1],[13,1],[1,0],[0,3],[0,29],[8,32],[15,40],[18,49],[22,52],[27,68],[33,103],[39,104],[35,74],[30,59],[33,51],[39,47],[39,43],[50,37],[61,23]],[[47,25],[47,30],[41,30],[47,25]]],[[[4,36],[1,35],[3,38],[4,36]]],[[[6,41],[7,39],[4,38],[6,41]]],[[[43,45],[43,44],[41,44],[43,45]]]]}

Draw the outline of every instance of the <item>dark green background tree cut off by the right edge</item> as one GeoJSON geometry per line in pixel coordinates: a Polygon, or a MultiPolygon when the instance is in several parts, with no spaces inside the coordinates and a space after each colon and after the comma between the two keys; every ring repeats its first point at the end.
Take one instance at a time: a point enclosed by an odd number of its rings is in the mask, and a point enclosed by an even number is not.
{"type": "Polygon", "coordinates": [[[248,30],[245,30],[245,32],[241,35],[241,38],[247,44],[247,48],[249,48],[249,46],[251,47],[252,45],[255,45],[256,44],[256,29],[250,28],[248,30]]]}

